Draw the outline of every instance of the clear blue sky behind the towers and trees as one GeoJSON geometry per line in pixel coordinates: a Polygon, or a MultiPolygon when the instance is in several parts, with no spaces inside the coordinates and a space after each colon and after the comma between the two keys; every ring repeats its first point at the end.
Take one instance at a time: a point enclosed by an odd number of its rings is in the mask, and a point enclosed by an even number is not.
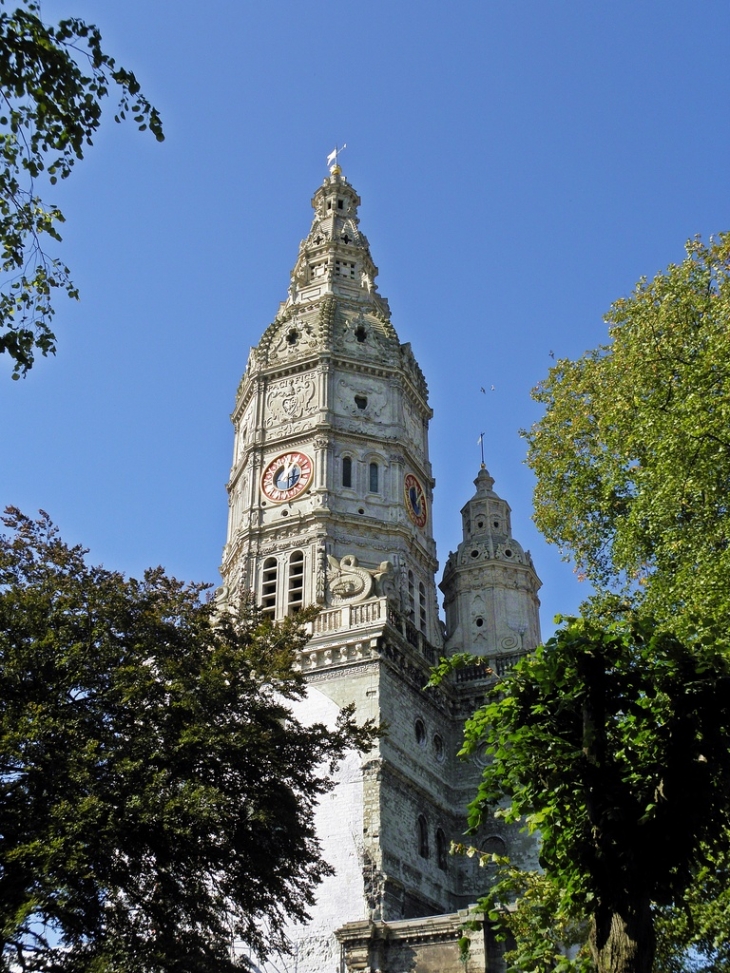
{"type": "MultiPolygon", "coordinates": [[[[81,302],[25,381],[0,360],[0,501],[91,559],[217,581],[228,416],[286,296],[325,158],[345,175],[401,341],[426,374],[441,563],[485,432],[544,587],[585,595],[531,520],[520,427],[550,351],[605,339],[611,302],[730,230],[726,0],[43,0],[96,22],[162,113],[110,111],[47,198],[81,302]],[[491,386],[495,391],[491,391],[491,386]],[[487,394],[480,392],[485,387],[487,394]]],[[[110,106],[111,107],[111,106],[110,106]]]]}

